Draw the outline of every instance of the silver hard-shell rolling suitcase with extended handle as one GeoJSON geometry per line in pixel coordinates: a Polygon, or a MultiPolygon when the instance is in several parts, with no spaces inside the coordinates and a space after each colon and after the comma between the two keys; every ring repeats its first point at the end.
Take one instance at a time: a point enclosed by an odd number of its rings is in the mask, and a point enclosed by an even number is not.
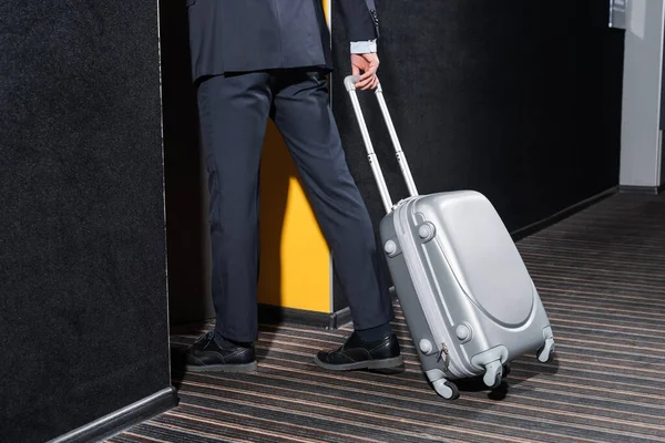
{"type": "Polygon", "coordinates": [[[474,190],[418,195],[380,84],[376,89],[410,197],[392,204],[358,102],[358,119],[387,215],[380,223],[392,284],[422,369],[444,399],[459,379],[499,387],[509,363],[534,352],[548,362],[554,337],[531,276],[492,204],[474,190]]]}

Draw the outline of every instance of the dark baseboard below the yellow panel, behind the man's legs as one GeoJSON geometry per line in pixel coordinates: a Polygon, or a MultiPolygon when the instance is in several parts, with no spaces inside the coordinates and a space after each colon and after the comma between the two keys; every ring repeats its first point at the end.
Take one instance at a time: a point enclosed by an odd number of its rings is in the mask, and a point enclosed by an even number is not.
{"type": "Polygon", "coordinates": [[[268,324],[303,324],[316,328],[339,329],[351,320],[349,308],[339,311],[316,312],[304,309],[283,308],[275,305],[258,305],[258,322],[268,324]]]}

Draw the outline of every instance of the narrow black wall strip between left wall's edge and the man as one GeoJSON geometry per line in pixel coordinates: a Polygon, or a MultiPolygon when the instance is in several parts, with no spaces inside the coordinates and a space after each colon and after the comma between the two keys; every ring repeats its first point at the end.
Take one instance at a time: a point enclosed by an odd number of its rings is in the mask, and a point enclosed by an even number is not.
{"type": "Polygon", "coordinates": [[[207,173],[198,137],[184,1],[160,4],[168,301],[173,324],[215,316],[209,297],[207,173]]]}

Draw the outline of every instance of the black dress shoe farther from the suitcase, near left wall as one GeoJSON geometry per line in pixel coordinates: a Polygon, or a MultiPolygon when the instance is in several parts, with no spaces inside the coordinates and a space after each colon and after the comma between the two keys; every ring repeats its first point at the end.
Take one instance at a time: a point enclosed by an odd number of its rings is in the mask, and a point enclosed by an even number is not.
{"type": "Polygon", "coordinates": [[[254,346],[221,348],[215,332],[209,331],[196,340],[186,352],[186,371],[192,372],[249,372],[256,370],[254,346]]]}

